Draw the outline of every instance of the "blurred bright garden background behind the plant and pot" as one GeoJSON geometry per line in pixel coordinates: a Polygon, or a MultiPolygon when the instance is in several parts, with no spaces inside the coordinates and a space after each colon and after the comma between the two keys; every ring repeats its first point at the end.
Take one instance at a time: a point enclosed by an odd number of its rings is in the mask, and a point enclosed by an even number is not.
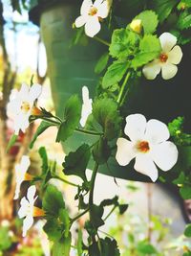
{"type": "MultiPolygon", "coordinates": [[[[64,151],[54,142],[56,128],[49,128],[38,138],[32,151],[28,151],[32,134],[39,124],[33,123],[26,134],[20,134],[9,154],[5,151],[13,132],[11,113],[6,108],[11,90],[19,88],[22,82],[30,84],[32,76],[34,82],[43,85],[38,105],[54,111],[50,80],[47,76],[46,51],[39,27],[29,21],[27,10],[23,9],[21,14],[13,11],[10,1],[0,1],[0,255],[6,256],[51,255],[51,244],[42,230],[43,221],[35,222],[28,237],[23,239],[21,236],[22,222],[17,219],[16,212],[18,202],[12,200],[15,187],[12,176],[15,164],[23,154],[30,155],[30,173],[38,174],[41,167],[38,150],[42,146],[46,146],[50,161],[55,160],[58,163],[57,172],[61,173],[64,151]]],[[[78,182],[71,176],[70,180],[78,182]]],[[[71,214],[75,215],[75,189],[55,180],[51,182],[63,192],[71,214]]],[[[24,195],[25,184],[22,190],[24,195]]],[[[162,184],[119,178],[115,180],[110,176],[97,175],[96,202],[104,198],[114,198],[116,195],[121,202],[129,204],[128,211],[123,216],[116,211],[99,231],[100,236],[107,233],[117,239],[122,256],[179,256],[191,249],[191,242],[182,235],[186,221],[189,221],[188,216],[185,215],[184,202],[175,189],[166,189],[162,184]],[[145,243],[145,239],[149,243],[145,243]],[[144,253],[145,248],[147,253],[144,253]]],[[[83,227],[85,219],[86,217],[78,221],[74,233],[77,228],[83,227]]],[[[77,255],[75,250],[71,255],[77,255]]]]}

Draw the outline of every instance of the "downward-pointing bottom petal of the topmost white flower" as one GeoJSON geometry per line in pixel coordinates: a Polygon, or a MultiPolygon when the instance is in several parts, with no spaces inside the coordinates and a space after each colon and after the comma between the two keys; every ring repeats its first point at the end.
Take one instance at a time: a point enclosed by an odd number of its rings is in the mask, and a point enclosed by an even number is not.
{"type": "Polygon", "coordinates": [[[94,37],[101,29],[98,17],[91,16],[85,25],[85,34],[94,37]]]}

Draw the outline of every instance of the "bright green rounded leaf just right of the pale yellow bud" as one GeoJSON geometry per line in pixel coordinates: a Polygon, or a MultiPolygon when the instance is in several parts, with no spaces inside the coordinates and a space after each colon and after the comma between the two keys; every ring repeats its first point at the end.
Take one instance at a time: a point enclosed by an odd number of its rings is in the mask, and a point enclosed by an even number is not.
{"type": "Polygon", "coordinates": [[[141,20],[144,34],[153,34],[159,24],[158,15],[151,10],[140,12],[135,19],[141,20]]]}

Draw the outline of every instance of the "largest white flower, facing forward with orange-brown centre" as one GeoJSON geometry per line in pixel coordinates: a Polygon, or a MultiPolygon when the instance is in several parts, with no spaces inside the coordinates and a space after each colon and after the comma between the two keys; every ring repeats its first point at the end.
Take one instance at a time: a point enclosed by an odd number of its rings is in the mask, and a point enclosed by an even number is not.
{"type": "Polygon", "coordinates": [[[177,162],[178,150],[174,143],[167,141],[170,137],[167,126],[155,119],[146,122],[141,114],[126,118],[125,134],[130,138],[117,139],[117,162],[121,166],[136,158],[134,168],[153,181],[158,178],[158,168],[170,170],[177,162]],[[157,166],[156,166],[157,165],[157,166]]]}

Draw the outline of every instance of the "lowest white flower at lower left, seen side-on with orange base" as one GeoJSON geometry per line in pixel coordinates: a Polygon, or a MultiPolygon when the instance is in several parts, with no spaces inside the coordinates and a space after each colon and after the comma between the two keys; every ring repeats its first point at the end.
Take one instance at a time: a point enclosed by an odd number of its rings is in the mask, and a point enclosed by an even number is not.
{"type": "Polygon", "coordinates": [[[21,207],[18,211],[18,216],[20,219],[25,218],[23,221],[23,237],[27,235],[27,231],[32,227],[33,217],[44,216],[45,213],[42,209],[35,207],[34,202],[37,197],[34,197],[36,193],[36,188],[32,185],[27,192],[27,198],[21,199],[21,207]]]}

